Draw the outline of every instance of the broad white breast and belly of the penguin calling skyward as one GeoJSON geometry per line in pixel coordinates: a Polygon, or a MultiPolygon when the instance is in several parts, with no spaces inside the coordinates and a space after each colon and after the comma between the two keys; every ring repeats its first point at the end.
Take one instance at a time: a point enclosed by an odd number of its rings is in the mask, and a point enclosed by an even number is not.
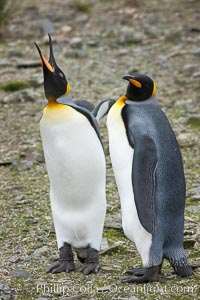
{"type": "Polygon", "coordinates": [[[106,210],[105,158],[87,118],[73,108],[40,122],[58,248],[99,250],[106,210]]]}

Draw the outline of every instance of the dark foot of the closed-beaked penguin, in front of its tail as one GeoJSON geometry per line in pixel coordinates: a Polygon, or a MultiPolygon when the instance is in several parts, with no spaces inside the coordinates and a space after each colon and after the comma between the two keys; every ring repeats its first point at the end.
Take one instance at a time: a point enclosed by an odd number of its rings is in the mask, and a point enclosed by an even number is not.
{"type": "MultiPolygon", "coordinates": [[[[134,269],[136,269],[136,268],[134,268],[134,269]]],[[[123,278],[121,280],[121,282],[123,282],[123,283],[147,283],[147,282],[158,281],[160,266],[153,266],[153,267],[144,268],[144,269],[138,268],[138,269],[139,269],[138,274],[140,274],[140,275],[137,275],[136,271],[135,271],[135,273],[131,273],[131,274],[134,274],[136,276],[129,277],[129,278],[123,278]],[[144,273],[143,273],[143,271],[144,271],[144,273]]]]}

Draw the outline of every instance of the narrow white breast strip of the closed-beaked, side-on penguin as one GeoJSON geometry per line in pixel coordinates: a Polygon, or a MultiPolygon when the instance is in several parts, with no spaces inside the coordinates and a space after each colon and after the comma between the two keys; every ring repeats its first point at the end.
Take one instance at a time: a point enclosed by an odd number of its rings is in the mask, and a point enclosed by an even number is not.
{"type": "Polygon", "coordinates": [[[129,145],[126,129],[121,117],[121,108],[115,104],[107,119],[109,149],[122,209],[122,226],[125,235],[134,241],[141,255],[143,265],[149,261],[152,235],[138,218],[132,186],[132,163],[134,150],[129,145]]]}

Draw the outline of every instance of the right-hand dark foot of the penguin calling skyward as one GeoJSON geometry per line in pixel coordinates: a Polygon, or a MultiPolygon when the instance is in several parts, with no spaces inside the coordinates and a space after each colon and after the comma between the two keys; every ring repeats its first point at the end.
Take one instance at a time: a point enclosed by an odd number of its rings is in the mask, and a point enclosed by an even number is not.
{"type": "Polygon", "coordinates": [[[99,271],[99,252],[96,249],[88,248],[82,272],[84,275],[97,273],[99,271]]]}

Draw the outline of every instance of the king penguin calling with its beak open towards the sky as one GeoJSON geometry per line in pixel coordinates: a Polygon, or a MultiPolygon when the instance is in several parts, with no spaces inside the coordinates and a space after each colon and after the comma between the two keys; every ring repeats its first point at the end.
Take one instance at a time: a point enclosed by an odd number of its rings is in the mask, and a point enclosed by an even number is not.
{"type": "MultiPolygon", "coordinates": [[[[43,65],[48,101],[40,132],[50,181],[50,202],[59,262],[47,272],[75,269],[73,252],[84,263],[83,274],[99,269],[99,250],[106,212],[105,156],[96,119],[85,102],[71,100],[70,86],[57,66],[49,35],[49,60],[35,44],[43,65]]],[[[87,103],[86,103],[87,104],[87,103]]]]}

